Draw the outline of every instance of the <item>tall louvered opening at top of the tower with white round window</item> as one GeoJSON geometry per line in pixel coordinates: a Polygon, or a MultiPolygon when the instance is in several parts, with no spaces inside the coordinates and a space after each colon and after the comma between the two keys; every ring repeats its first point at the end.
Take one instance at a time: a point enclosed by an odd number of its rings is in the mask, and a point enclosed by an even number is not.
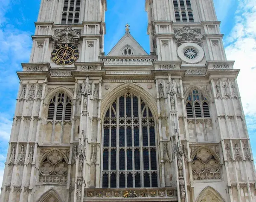
{"type": "Polygon", "coordinates": [[[190,0],[173,0],[173,9],[175,12],[176,22],[194,22],[194,16],[192,13],[192,6],[190,0]]]}

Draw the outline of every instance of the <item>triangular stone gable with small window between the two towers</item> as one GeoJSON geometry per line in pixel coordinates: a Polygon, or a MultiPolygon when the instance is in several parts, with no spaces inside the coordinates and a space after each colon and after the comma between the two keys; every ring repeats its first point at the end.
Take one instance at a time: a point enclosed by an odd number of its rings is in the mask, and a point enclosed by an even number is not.
{"type": "MultiPolygon", "coordinates": [[[[142,46],[135,40],[130,32],[125,32],[125,35],[116,43],[116,45],[108,53],[108,56],[124,55],[124,49],[131,49],[132,55],[148,55],[142,46]]],[[[130,56],[129,54],[125,56],[130,56]]]]}

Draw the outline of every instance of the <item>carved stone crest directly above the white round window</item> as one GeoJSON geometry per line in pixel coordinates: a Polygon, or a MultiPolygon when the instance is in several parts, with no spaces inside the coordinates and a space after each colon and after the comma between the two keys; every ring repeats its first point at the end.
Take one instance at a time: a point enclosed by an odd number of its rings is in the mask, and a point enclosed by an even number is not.
{"type": "Polygon", "coordinates": [[[191,29],[189,26],[183,26],[182,29],[174,29],[174,37],[177,39],[178,46],[185,42],[197,42],[201,46],[201,35],[200,29],[191,29]]]}

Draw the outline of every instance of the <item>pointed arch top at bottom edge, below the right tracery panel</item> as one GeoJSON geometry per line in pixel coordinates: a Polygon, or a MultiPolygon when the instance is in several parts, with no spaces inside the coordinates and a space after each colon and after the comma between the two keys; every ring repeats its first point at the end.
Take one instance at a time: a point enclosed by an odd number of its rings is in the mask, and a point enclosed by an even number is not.
{"type": "Polygon", "coordinates": [[[225,200],[214,188],[207,187],[199,194],[196,202],[225,202],[225,200]]]}

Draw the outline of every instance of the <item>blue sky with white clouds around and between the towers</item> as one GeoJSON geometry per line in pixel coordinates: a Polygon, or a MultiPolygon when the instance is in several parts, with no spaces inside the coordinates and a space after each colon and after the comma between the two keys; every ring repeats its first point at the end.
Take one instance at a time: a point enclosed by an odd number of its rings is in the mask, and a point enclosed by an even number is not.
{"type": "MultiPolygon", "coordinates": [[[[145,0],[107,0],[105,53],[130,24],[134,38],[149,52],[145,0]]],[[[41,0],[0,0],[0,185],[12,127],[21,62],[28,62],[41,0]]],[[[228,60],[241,69],[238,83],[256,157],[256,1],[214,0],[228,60]]]]}

